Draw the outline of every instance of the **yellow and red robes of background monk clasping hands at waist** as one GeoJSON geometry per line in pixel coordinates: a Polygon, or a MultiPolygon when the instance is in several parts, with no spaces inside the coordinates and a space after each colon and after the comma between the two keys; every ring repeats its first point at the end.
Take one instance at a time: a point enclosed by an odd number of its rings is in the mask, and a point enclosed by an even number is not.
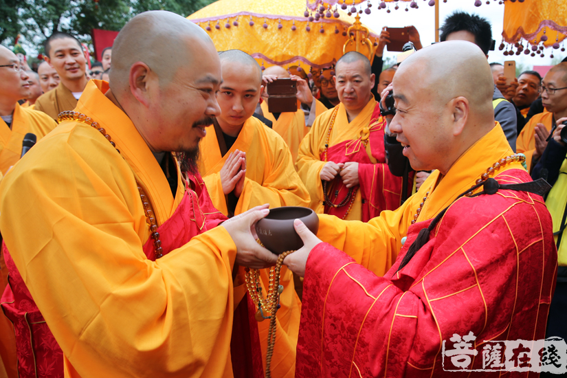
{"type": "MultiPolygon", "coordinates": [[[[311,131],[302,140],[296,168],[309,190],[309,207],[318,214],[333,214],[348,221],[368,221],[382,210],[395,210],[401,203],[402,179],[390,173],[386,164],[384,127],[378,103],[374,98],[357,117],[348,122],[343,104],[320,115],[311,131]],[[333,129],[329,129],[334,117],[333,129]],[[329,147],[325,152],[325,145],[329,147]],[[327,159],[325,161],[325,153],[327,159]],[[355,197],[343,206],[324,205],[323,184],[320,173],[326,162],[357,162],[359,185],[353,188],[355,197]],[[346,217],[345,217],[346,214],[346,217]]],[[[412,176],[408,179],[408,193],[412,190],[412,176]]],[[[343,203],[349,189],[337,177],[329,182],[327,192],[333,203],[343,203]]]]}

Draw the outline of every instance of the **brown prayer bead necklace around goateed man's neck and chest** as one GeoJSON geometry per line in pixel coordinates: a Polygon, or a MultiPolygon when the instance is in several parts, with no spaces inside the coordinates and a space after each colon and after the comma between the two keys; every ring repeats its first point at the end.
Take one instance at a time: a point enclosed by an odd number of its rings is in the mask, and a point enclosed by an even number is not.
{"type": "MultiPolygon", "coordinates": [[[[116,144],[112,141],[110,135],[107,134],[107,131],[104,130],[98,122],[93,121],[91,118],[87,117],[87,115],[79,113],[78,111],[62,111],[59,113],[58,123],[61,123],[65,120],[71,121],[78,121],[89,126],[92,126],[94,129],[98,130],[105,138],[110,142],[110,144],[116,148],[116,144]]],[[[116,151],[120,153],[120,150],[116,148],[116,151]]],[[[120,154],[122,156],[122,154],[120,154]]],[[[146,223],[150,227],[151,238],[153,238],[153,246],[155,252],[156,260],[162,256],[164,256],[162,249],[162,241],[159,240],[159,232],[157,232],[157,221],[155,220],[155,214],[153,212],[152,204],[149,201],[148,197],[144,193],[144,189],[142,186],[137,182],[136,185],[138,188],[138,192],[140,192],[140,199],[142,199],[142,205],[144,205],[144,213],[146,214],[146,223]]]]}

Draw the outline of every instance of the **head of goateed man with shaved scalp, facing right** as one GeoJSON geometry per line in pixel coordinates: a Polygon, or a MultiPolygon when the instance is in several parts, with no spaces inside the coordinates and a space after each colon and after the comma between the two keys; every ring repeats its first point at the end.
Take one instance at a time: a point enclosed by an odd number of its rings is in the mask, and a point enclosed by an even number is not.
{"type": "Polygon", "coordinates": [[[215,93],[221,62],[201,27],[172,12],[144,12],[126,23],[112,47],[110,91],[153,152],[178,153],[197,167],[199,141],[220,114],[215,93]]]}

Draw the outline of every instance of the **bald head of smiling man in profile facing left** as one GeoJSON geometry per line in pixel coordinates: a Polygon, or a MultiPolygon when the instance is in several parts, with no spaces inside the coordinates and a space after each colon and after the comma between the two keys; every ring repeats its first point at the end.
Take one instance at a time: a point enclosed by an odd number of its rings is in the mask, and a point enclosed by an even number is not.
{"type": "MultiPolygon", "coordinates": [[[[397,113],[390,131],[397,133],[414,170],[445,175],[495,127],[491,70],[474,43],[423,48],[403,60],[392,84],[397,113]]],[[[502,129],[495,132],[505,142],[502,129]]]]}

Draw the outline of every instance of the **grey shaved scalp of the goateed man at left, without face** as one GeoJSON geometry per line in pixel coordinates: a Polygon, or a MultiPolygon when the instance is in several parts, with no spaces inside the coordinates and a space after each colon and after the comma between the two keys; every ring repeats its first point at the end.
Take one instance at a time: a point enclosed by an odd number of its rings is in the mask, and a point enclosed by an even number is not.
{"type": "Polygon", "coordinates": [[[112,47],[111,89],[117,93],[128,85],[129,70],[143,62],[166,85],[179,67],[199,59],[200,48],[212,48],[212,41],[201,27],[178,14],[151,11],[131,19],[116,37],[112,47]],[[194,46],[188,49],[187,45],[194,46]]]}

